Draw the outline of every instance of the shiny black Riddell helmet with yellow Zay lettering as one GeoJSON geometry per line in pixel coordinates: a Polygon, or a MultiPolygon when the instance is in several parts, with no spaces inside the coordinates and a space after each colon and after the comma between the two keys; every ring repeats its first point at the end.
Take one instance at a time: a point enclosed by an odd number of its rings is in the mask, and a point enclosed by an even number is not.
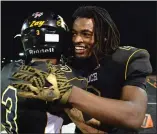
{"type": "Polygon", "coordinates": [[[69,28],[60,15],[36,12],[21,28],[25,54],[31,58],[60,58],[68,51],[69,28]]]}

